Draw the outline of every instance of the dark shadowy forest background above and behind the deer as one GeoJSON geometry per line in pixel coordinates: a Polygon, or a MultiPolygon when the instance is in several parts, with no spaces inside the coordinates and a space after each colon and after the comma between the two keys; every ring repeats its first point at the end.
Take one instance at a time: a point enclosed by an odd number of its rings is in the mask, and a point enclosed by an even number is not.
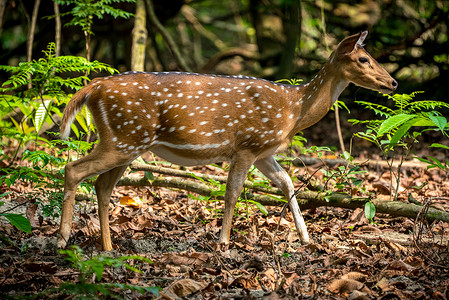
{"type": "MultiPolygon", "coordinates": [[[[368,30],[366,48],[398,80],[398,93],[424,91],[418,96],[421,100],[447,101],[449,1],[153,0],[155,18],[173,44],[167,43],[164,32],[161,34],[154,25],[148,13],[150,2],[139,1],[147,15],[145,71],[243,74],[307,82],[342,38],[368,30]]],[[[106,2],[136,13],[136,3],[106,2]]],[[[36,1],[2,0],[0,4],[0,64],[17,65],[27,60],[27,37],[36,1]]],[[[42,51],[55,41],[57,32],[54,2],[41,0],[39,4],[32,59],[43,56],[42,51]]],[[[72,8],[73,4],[58,7],[62,23],[60,55],[86,57],[81,27],[67,26],[73,18],[67,14],[72,8]]],[[[135,18],[104,14],[92,21],[89,59],[121,72],[131,70],[135,18]]],[[[1,73],[0,81],[9,75],[1,73]]],[[[91,77],[100,75],[104,74],[91,77]]],[[[377,92],[354,85],[340,100],[347,103],[351,116],[364,113],[353,100],[385,102],[377,92]]],[[[341,114],[343,127],[349,126],[348,113],[341,114]]],[[[344,135],[349,137],[351,133],[344,135]]]]}

